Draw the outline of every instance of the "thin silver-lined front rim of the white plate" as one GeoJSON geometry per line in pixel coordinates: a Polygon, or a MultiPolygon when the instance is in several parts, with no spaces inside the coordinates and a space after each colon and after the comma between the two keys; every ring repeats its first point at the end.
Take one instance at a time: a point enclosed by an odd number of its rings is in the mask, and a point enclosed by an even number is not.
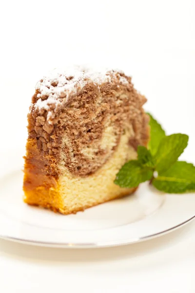
{"type": "Polygon", "coordinates": [[[108,248],[108,247],[130,245],[130,244],[134,244],[134,243],[138,243],[142,241],[151,240],[158,236],[162,236],[169,232],[177,230],[180,227],[185,226],[186,224],[190,223],[193,220],[195,220],[195,215],[187,219],[186,221],[179,223],[176,226],[173,226],[169,229],[166,229],[154,234],[138,237],[135,239],[124,239],[124,240],[115,240],[115,241],[103,241],[103,242],[94,242],[94,243],[68,243],[68,242],[55,243],[55,242],[47,242],[47,241],[44,242],[44,241],[37,241],[37,240],[28,240],[28,239],[22,239],[22,238],[6,236],[6,235],[0,235],[0,239],[9,240],[9,241],[17,242],[21,244],[34,245],[39,247],[50,247],[50,248],[66,248],[66,249],[108,248]]]}

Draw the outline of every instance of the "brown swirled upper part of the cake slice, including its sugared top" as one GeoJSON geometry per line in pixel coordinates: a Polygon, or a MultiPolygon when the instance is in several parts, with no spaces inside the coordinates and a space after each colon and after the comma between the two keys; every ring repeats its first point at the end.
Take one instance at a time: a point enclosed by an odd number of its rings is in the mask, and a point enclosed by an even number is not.
{"type": "Polygon", "coordinates": [[[135,149],[148,142],[146,99],[130,77],[109,69],[71,70],[55,69],[39,81],[28,115],[28,139],[55,178],[64,167],[76,176],[93,174],[123,134],[135,149]]]}

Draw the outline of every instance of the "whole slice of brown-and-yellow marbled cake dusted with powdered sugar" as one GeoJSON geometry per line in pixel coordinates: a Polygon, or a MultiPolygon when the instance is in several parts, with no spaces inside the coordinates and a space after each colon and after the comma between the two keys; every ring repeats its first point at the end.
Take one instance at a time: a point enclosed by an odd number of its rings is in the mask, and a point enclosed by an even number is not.
{"type": "Polygon", "coordinates": [[[130,194],[114,184],[147,146],[146,98],[112,69],[54,69],[36,85],[28,114],[24,202],[76,213],[130,194]]]}

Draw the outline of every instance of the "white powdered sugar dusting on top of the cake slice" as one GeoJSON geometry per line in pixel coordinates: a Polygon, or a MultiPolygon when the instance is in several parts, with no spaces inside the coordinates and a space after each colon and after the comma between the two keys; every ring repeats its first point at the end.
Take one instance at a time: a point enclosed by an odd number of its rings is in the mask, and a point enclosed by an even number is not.
{"type": "Polygon", "coordinates": [[[128,84],[128,81],[118,70],[108,68],[89,68],[86,66],[74,66],[64,69],[55,68],[47,76],[40,80],[36,89],[39,91],[37,97],[39,100],[34,105],[35,109],[44,109],[48,111],[48,122],[52,119],[50,106],[55,108],[62,102],[68,101],[70,94],[77,93],[87,83],[93,82],[97,86],[102,83],[111,82],[117,79],[120,84],[128,84]],[[119,79],[118,79],[119,78],[119,79]]]}

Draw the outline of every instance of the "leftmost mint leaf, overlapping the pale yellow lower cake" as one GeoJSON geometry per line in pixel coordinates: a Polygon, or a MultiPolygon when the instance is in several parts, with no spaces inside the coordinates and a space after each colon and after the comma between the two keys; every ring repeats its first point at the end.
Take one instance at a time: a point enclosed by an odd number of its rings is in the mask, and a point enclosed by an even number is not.
{"type": "Polygon", "coordinates": [[[153,176],[153,170],[150,167],[143,167],[136,161],[129,161],[117,173],[115,184],[120,187],[137,187],[141,182],[150,180],[153,176]]]}

